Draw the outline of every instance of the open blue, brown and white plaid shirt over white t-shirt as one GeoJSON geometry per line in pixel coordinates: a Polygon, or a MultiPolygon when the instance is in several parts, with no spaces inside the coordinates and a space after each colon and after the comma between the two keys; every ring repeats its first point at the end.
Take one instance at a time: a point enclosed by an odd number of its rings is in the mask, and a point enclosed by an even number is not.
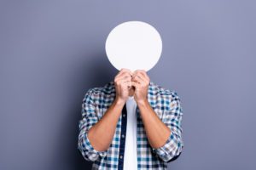
{"type": "MultiPolygon", "coordinates": [[[[95,150],[87,136],[90,127],[102,118],[114,99],[113,81],[104,87],[90,88],[84,94],[82,119],[79,121],[78,149],[85,160],[93,162],[92,169],[123,169],[127,121],[125,106],[108,150],[95,150]]],[[[177,159],[183,149],[183,110],[176,92],[162,88],[154,82],[149,82],[148,85],[148,103],[160,120],[171,129],[171,134],[160,148],[152,148],[148,143],[137,107],[137,169],[166,169],[167,162],[177,159]]]]}

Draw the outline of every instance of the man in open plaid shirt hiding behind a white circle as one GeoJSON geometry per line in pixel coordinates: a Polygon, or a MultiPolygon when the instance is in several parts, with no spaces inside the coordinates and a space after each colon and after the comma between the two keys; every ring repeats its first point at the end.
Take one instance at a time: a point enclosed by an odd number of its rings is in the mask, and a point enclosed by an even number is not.
{"type": "Polygon", "coordinates": [[[174,91],[121,69],[84,95],[78,149],[92,169],[166,169],[183,149],[182,116],[174,91]]]}

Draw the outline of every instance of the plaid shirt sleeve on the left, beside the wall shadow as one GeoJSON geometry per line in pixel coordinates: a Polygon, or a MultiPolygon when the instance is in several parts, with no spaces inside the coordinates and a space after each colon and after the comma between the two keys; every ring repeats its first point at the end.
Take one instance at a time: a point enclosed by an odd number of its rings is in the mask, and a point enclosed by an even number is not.
{"type": "Polygon", "coordinates": [[[87,161],[96,161],[99,156],[107,156],[107,150],[98,151],[91,145],[88,138],[88,131],[96,122],[98,117],[96,116],[96,108],[93,102],[93,88],[90,88],[84,95],[82,102],[82,119],[79,120],[79,141],[78,149],[82,156],[87,161]]]}

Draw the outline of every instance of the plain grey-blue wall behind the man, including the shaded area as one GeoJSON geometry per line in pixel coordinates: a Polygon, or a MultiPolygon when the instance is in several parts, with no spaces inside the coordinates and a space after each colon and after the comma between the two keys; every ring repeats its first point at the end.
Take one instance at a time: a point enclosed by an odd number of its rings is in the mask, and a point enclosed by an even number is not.
{"type": "Polygon", "coordinates": [[[0,169],[90,169],[77,150],[88,88],[113,80],[114,26],[163,39],[151,81],[183,102],[183,154],[169,169],[255,169],[255,1],[1,1],[0,169]]]}

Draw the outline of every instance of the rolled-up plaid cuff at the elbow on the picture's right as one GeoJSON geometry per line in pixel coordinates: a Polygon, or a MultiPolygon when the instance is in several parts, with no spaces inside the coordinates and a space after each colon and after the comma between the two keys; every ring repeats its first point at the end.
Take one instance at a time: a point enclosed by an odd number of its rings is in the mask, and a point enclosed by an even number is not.
{"type": "Polygon", "coordinates": [[[154,154],[160,156],[163,161],[170,161],[172,157],[180,154],[183,148],[183,143],[181,140],[175,137],[174,133],[170,133],[169,138],[166,143],[159,148],[152,148],[154,154]]]}

